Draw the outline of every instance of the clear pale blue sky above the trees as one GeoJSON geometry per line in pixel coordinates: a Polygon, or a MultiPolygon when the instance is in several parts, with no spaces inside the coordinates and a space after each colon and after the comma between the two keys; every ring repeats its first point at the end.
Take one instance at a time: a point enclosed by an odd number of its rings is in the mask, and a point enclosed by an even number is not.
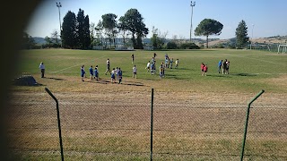
{"type": "Polygon", "coordinates": [[[43,0],[30,16],[25,31],[31,37],[51,37],[60,30],[60,21],[68,11],[77,15],[82,9],[89,15],[90,24],[97,24],[101,15],[114,13],[117,20],[135,8],[143,16],[143,22],[150,30],[146,38],[151,38],[152,27],[167,38],[204,38],[195,36],[194,30],[200,21],[213,19],[223,24],[220,36],[209,38],[234,38],[240,21],[245,21],[249,38],[266,38],[287,35],[286,0],[196,0],[191,6],[189,0],[43,0]],[[62,7],[57,7],[61,3],[62,7]],[[60,15],[59,15],[60,9],[60,15]],[[191,28],[192,26],[192,28],[191,28]]]}

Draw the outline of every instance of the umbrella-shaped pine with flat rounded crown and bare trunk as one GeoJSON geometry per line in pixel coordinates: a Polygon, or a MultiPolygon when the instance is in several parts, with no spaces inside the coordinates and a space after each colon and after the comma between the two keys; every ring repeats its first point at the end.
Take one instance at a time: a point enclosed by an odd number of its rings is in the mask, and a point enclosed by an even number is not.
{"type": "Polygon", "coordinates": [[[206,47],[208,48],[208,37],[210,35],[221,35],[223,25],[219,21],[213,19],[204,19],[201,21],[195,30],[196,36],[206,37],[206,47]]]}

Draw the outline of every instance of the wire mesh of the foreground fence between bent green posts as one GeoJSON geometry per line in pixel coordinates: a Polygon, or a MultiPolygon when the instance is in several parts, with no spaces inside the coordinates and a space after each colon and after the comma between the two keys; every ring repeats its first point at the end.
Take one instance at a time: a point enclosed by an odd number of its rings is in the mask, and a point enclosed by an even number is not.
{"type": "MultiPolygon", "coordinates": [[[[47,97],[11,101],[11,159],[61,159],[56,103],[47,97]]],[[[154,97],[153,112],[151,97],[59,100],[65,159],[151,160],[151,150],[153,160],[240,159],[248,105],[154,97]]],[[[287,159],[286,115],[286,105],[251,106],[244,159],[287,159]]]]}

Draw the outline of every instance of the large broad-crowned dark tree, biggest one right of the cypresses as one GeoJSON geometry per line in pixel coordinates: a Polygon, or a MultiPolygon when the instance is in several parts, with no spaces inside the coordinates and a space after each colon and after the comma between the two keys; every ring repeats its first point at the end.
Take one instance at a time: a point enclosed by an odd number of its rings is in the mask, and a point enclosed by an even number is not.
{"type": "Polygon", "coordinates": [[[149,30],[143,23],[142,14],[136,9],[129,9],[124,16],[119,18],[119,24],[122,29],[129,30],[132,33],[134,48],[143,48],[142,38],[146,37],[149,30]]]}

